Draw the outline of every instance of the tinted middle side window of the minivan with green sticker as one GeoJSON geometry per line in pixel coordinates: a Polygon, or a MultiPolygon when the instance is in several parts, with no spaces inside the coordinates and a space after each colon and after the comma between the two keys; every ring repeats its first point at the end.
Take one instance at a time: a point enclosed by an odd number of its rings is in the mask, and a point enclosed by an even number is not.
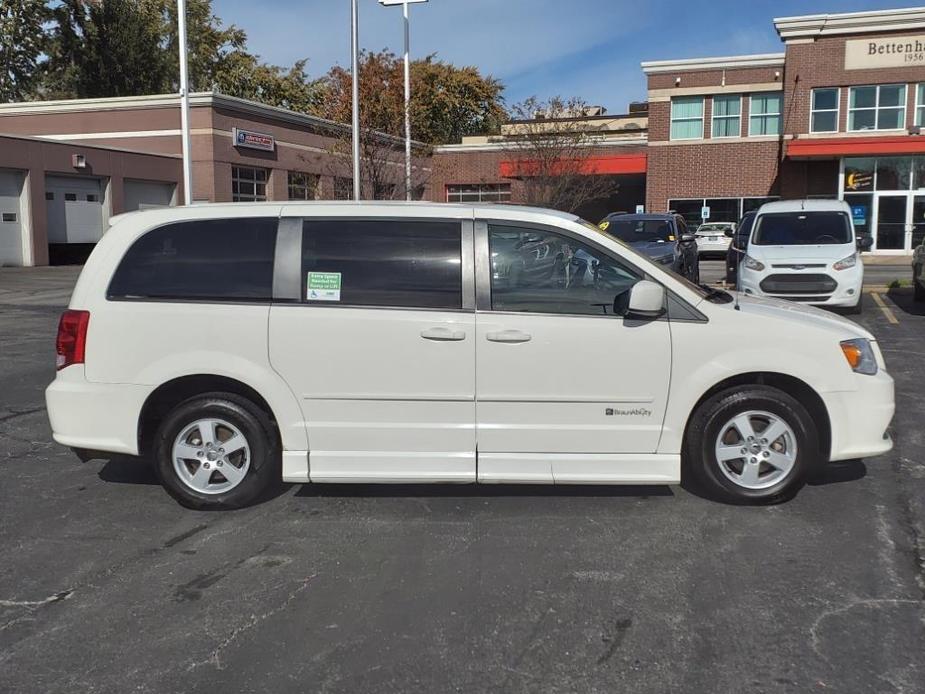
{"type": "Polygon", "coordinates": [[[302,297],[319,305],[462,308],[460,223],[306,220],[302,297]]]}

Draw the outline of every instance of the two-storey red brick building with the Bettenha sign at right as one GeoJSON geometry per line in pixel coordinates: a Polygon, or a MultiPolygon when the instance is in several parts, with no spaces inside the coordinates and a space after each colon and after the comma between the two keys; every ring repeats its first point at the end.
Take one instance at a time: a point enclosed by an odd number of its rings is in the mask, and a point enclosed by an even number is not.
{"type": "Polygon", "coordinates": [[[925,10],[774,20],[784,52],[653,61],[647,207],[733,220],[837,197],[875,252],[925,237],[925,10]]]}

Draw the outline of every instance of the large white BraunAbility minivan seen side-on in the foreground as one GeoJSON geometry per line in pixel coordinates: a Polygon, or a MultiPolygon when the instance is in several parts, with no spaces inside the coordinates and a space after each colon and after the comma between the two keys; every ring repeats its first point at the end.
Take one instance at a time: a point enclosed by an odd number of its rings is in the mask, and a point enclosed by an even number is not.
{"type": "Polygon", "coordinates": [[[574,215],[236,203],[113,218],[61,318],[54,438],[195,508],[274,482],[795,492],[892,442],[874,337],[696,286],[574,215]]]}

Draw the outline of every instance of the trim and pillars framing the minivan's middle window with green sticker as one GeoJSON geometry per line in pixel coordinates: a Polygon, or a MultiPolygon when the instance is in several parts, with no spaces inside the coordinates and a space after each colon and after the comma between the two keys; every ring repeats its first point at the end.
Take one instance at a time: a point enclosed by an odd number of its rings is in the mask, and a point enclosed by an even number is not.
{"type": "MultiPolygon", "coordinates": [[[[274,281],[273,303],[283,306],[301,306],[313,309],[354,309],[376,311],[427,311],[437,313],[473,313],[475,311],[475,278],[473,258],[473,229],[472,219],[462,217],[429,217],[405,215],[289,215],[280,218],[280,229],[285,227],[287,220],[296,220],[298,229],[297,253],[288,253],[284,257],[277,256],[274,266],[274,280],[277,272],[286,279],[282,280],[277,293],[277,284],[274,281]],[[305,222],[435,222],[441,224],[458,224],[460,227],[460,253],[461,267],[461,308],[440,308],[434,306],[373,306],[370,304],[349,304],[344,302],[308,303],[302,300],[302,229],[305,222]],[[284,285],[285,283],[285,285],[284,285]],[[284,288],[285,286],[285,288],[284,288]]],[[[279,240],[277,241],[279,243],[279,240]]],[[[284,242],[289,243],[289,242],[284,242]]]]}

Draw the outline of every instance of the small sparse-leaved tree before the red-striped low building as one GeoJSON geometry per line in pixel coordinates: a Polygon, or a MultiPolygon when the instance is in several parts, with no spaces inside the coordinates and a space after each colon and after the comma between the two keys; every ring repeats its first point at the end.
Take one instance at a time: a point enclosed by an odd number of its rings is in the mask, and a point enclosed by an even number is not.
{"type": "Polygon", "coordinates": [[[582,119],[586,113],[587,105],[577,98],[531,97],[512,107],[505,141],[513,175],[522,179],[524,202],[576,212],[617,191],[612,176],[595,172],[599,136],[582,119]]]}

